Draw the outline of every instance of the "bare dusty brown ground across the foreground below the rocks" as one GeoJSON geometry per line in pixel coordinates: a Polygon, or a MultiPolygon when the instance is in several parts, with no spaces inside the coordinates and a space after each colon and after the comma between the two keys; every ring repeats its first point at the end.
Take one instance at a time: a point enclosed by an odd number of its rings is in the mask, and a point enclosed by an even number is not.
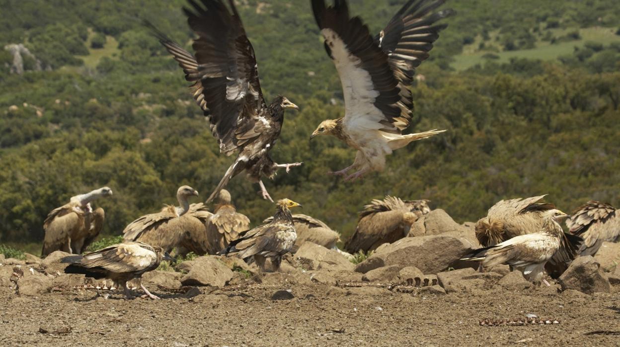
{"type": "MultiPolygon", "coordinates": [[[[374,287],[307,284],[266,274],[262,283],[202,287],[191,299],[153,288],[161,300],[108,299],[92,290],[20,297],[0,289],[0,345],[45,346],[395,346],[580,345],[620,341],[620,297],[510,292],[498,286],[468,293],[390,292],[374,287]],[[272,300],[291,289],[290,300],[272,300]],[[481,327],[482,318],[560,320],[557,325],[481,327]],[[68,333],[40,333],[71,328],[68,333]]],[[[103,293],[103,292],[102,292],[103,293]]]]}

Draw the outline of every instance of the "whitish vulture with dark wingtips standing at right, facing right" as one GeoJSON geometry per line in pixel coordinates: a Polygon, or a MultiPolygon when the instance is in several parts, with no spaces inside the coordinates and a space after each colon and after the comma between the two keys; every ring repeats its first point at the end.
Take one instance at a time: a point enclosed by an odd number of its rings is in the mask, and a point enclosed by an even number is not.
{"type": "Polygon", "coordinates": [[[545,264],[560,249],[564,231],[559,222],[569,217],[556,209],[542,210],[541,227],[538,232],[518,235],[497,245],[480,248],[462,260],[482,262],[482,269],[498,264],[508,264],[523,273],[532,282],[541,282],[545,264]]]}

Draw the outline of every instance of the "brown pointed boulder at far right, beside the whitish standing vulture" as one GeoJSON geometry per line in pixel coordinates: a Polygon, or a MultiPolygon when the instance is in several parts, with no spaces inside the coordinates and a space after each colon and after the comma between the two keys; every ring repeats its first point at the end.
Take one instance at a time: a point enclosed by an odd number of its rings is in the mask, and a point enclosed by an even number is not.
{"type": "Polygon", "coordinates": [[[611,292],[609,280],[603,276],[601,266],[592,256],[580,256],[559,278],[562,290],[575,289],[587,294],[611,292]]]}

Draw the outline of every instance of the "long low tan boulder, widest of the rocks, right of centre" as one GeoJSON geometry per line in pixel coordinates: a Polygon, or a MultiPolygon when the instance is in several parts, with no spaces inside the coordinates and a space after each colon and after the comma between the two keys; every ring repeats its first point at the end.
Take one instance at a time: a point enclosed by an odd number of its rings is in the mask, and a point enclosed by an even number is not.
{"type": "Polygon", "coordinates": [[[444,235],[402,238],[390,245],[378,248],[373,255],[355,266],[358,273],[383,266],[400,268],[415,266],[425,274],[436,274],[447,269],[467,251],[471,243],[464,238],[444,235]]]}

